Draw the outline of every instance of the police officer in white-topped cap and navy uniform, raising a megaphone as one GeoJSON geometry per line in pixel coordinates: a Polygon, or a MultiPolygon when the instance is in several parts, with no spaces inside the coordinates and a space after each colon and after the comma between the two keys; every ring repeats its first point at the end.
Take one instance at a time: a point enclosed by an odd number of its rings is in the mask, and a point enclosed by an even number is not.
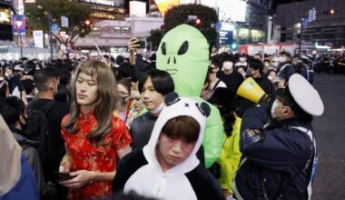
{"type": "Polygon", "coordinates": [[[291,75],[268,109],[256,106],[242,118],[242,163],[234,176],[235,199],[310,199],[317,165],[311,122],[324,110],[319,93],[301,75],[291,75]]]}

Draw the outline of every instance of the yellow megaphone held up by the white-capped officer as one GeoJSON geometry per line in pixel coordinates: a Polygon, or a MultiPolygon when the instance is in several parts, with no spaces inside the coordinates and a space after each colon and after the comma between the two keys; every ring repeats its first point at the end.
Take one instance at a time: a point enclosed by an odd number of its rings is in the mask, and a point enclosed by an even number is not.
{"type": "Polygon", "coordinates": [[[267,96],[262,90],[261,86],[258,85],[251,77],[248,77],[245,81],[243,81],[242,85],[240,85],[239,89],[237,90],[237,95],[241,95],[243,98],[248,99],[256,104],[267,96]]]}

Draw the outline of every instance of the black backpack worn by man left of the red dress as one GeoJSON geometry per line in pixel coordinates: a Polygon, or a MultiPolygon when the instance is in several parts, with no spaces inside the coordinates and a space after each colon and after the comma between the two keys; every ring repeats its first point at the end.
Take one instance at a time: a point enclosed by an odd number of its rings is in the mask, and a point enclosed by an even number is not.
{"type": "Polygon", "coordinates": [[[36,110],[34,109],[34,102],[32,102],[28,105],[26,110],[28,120],[25,127],[25,134],[30,139],[39,143],[37,150],[43,168],[52,163],[53,149],[47,115],[54,105],[56,105],[56,102],[52,101],[44,105],[42,110],[36,110]]]}

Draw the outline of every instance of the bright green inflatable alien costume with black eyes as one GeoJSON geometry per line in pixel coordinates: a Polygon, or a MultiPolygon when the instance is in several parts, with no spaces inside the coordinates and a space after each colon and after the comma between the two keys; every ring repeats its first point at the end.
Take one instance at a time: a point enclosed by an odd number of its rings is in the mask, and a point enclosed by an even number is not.
{"type": "MultiPolygon", "coordinates": [[[[173,77],[175,92],[199,103],[209,65],[209,45],[202,33],[191,25],[178,25],[164,35],[157,51],[157,68],[173,77]]],[[[210,104],[209,104],[210,105],[210,104]]],[[[222,118],[211,106],[203,139],[205,166],[210,167],[222,151],[222,118]]]]}

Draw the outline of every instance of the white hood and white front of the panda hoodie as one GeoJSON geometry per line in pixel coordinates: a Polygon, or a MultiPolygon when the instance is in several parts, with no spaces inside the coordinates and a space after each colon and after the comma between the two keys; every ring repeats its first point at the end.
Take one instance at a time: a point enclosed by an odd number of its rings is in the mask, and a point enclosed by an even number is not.
{"type": "MultiPolygon", "coordinates": [[[[206,114],[201,105],[196,101],[180,97],[180,100],[173,104],[167,104],[159,115],[148,145],[143,147],[143,155],[148,164],[139,168],[124,185],[124,192],[134,190],[139,195],[157,197],[164,200],[197,199],[195,192],[187,176],[200,161],[196,153],[202,145],[203,134],[206,124],[206,114]],[[197,142],[189,155],[181,164],[163,172],[156,157],[156,145],[163,126],[176,116],[192,116],[200,125],[200,133],[197,142]]],[[[176,100],[176,99],[175,99],[176,100]]]]}

